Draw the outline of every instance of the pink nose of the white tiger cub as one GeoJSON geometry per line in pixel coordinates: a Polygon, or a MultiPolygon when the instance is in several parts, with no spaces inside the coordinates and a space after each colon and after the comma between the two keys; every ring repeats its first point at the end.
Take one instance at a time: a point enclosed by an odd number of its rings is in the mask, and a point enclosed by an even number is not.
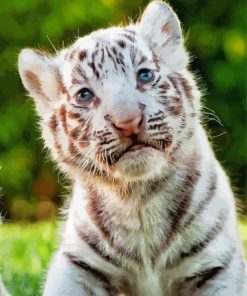
{"type": "Polygon", "coordinates": [[[139,134],[141,131],[141,124],[142,124],[142,115],[139,115],[135,118],[131,118],[127,121],[118,121],[112,119],[113,126],[121,132],[121,134],[125,137],[129,137],[133,134],[139,134]]]}

